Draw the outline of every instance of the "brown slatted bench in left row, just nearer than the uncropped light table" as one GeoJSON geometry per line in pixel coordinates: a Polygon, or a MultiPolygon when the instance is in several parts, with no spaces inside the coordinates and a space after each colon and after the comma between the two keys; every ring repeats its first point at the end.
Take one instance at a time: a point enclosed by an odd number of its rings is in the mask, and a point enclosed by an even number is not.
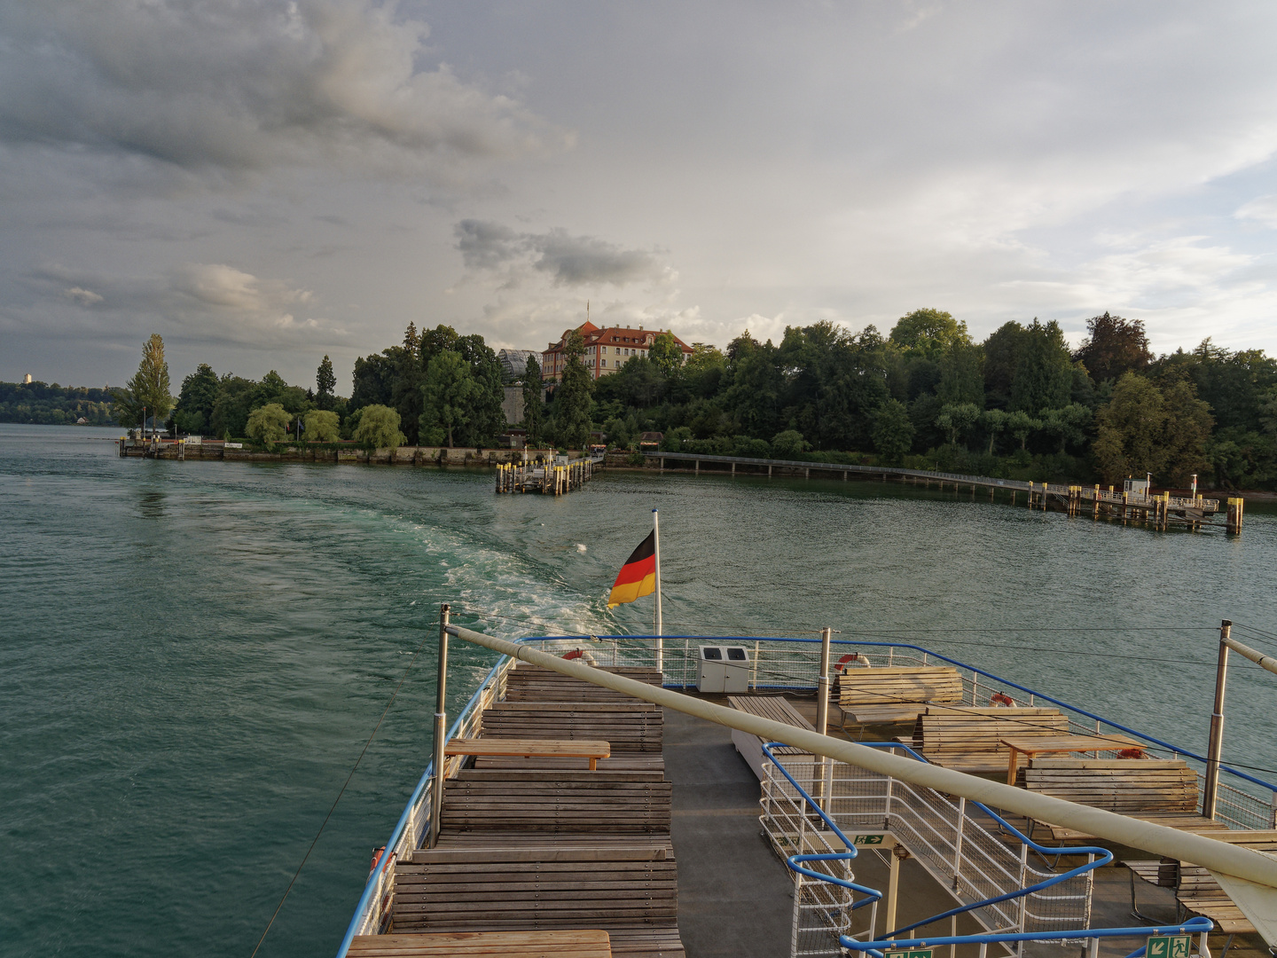
{"type": "Polygon", "coordinates": [[[442,832],[668,833],[669,782],[448,779],[442,832]]]}

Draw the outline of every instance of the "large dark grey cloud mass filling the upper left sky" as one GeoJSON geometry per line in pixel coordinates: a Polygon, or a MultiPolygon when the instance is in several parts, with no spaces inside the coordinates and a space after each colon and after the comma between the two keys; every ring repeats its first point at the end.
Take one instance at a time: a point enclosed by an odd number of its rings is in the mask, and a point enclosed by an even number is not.
{"type": "Polygon", "coordinates": [[[64,0],[0,11],[0,141],[229,171],[536,152],[517,102],[421,70],[428,29],[369,0],[64,0]]]}

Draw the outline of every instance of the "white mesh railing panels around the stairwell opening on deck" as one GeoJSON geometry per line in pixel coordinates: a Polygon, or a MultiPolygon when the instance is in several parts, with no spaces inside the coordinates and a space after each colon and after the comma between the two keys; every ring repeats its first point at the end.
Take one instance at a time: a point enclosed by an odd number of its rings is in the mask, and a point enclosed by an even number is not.
{"type": "MultiPolygon", "coordinates": [[[[954,801],[930,788],[889,779],[844,763],[826,761],[821,773],[821,763],[811,756],[784,756],[783,761],[785,770],[806,791],[827,796],[824,798],[825,811],[839,828],[844,832],[890,832],[940,886],[950,890],[959,904],[1009,894],[1056,874],[1031,865],[1028,846],[1015,848],[992,834],[986,825],[994,823],[973,805],[968,809],[964,798],[954,801]]],[[[760,821],[773,847],[782,857],[794,855],[797,848],[819,847],[826,837],[812,826],[798,791],[771,763],[765,763],[764,768],[760,821]]],[[[863,853],[867,848],[859,851],[863,853]]],[[[1088,855],[1088,861],[1093,857],[1088,855]]],[[[1091,922],[1091,875],[1087,872],[1018,899],[985,906],[971,915],[988,931],[1075,929],[1082,932],[1091,922]]],[[[833,904],[817,897],[815,888],[805,889],[798,883],[794,955],[839,955],[838,936],[834,934],[838,926],[852,929],[840,934],[856,938],[865,938],[875,930],[872,915],[853,925],[853,913],[836,918],[821,913],[821,908],[831,908],[833,904]]],[[[948,926],[948,921],[945,924],[948,926]]],[[[877,932],[889,930],[877,929],[877,932]]],[[[1082,936],[1079,934],[1078,938],[1082,936]]]]}

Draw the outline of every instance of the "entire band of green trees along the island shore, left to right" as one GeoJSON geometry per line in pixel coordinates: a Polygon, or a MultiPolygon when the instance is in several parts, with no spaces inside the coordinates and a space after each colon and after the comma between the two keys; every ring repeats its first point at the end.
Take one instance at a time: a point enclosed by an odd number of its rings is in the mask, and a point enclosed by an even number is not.
{"type": "MultiPolygon", "coordinates": [[[[349,397],[328,356],[315,386],[218,376],[202,364],[161,422],[188,433],[262,442],[301,437],[378,446],[490,446],[507,428],[504,388],[521,387],[529,445],[581,448],[591,433],[636,448],[885,462],[1054,482],[1117,483],[1151,473],[1163,487],[1264,488],[1277,482],[1277,360],[1205,340],[1154,356],[1143,322],[1093,317],[1070,350],[1055,322],[1009,322],[982,342],[940,309],[917,309],[884,336],[829,322],[748,331],[723,350],[693,344],[687,363],[663,333],[647,356],[594,379],[580,333],[550,390],[535,359],[516,382],[478,335],[418,331],[355,360],[349,397]]],[[[158,336],[115,391],[121,424],[167,396],[158,336]]]]}

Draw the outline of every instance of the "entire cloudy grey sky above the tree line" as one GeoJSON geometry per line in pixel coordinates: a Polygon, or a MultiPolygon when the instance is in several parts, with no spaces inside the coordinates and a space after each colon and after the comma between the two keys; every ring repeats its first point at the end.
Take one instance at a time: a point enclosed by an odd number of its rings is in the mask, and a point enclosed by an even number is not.
{"type": "Polygon", "coordinates": [[[1277,353],[1272,3],[14,0],[0,379],[935,307],[1277,353]]]}

